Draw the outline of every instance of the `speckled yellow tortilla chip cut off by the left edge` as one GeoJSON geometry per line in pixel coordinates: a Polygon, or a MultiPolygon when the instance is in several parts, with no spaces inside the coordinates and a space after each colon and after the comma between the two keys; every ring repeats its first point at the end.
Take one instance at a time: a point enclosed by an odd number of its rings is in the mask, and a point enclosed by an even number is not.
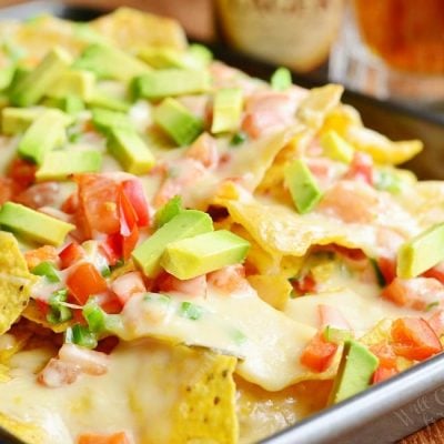
{"type": "Polygon", "coordinates": [[[0,232],[0,334],[17,321],[29,301],[36,276],[28,271],[27,262],[16,238],[0,232]]]}

